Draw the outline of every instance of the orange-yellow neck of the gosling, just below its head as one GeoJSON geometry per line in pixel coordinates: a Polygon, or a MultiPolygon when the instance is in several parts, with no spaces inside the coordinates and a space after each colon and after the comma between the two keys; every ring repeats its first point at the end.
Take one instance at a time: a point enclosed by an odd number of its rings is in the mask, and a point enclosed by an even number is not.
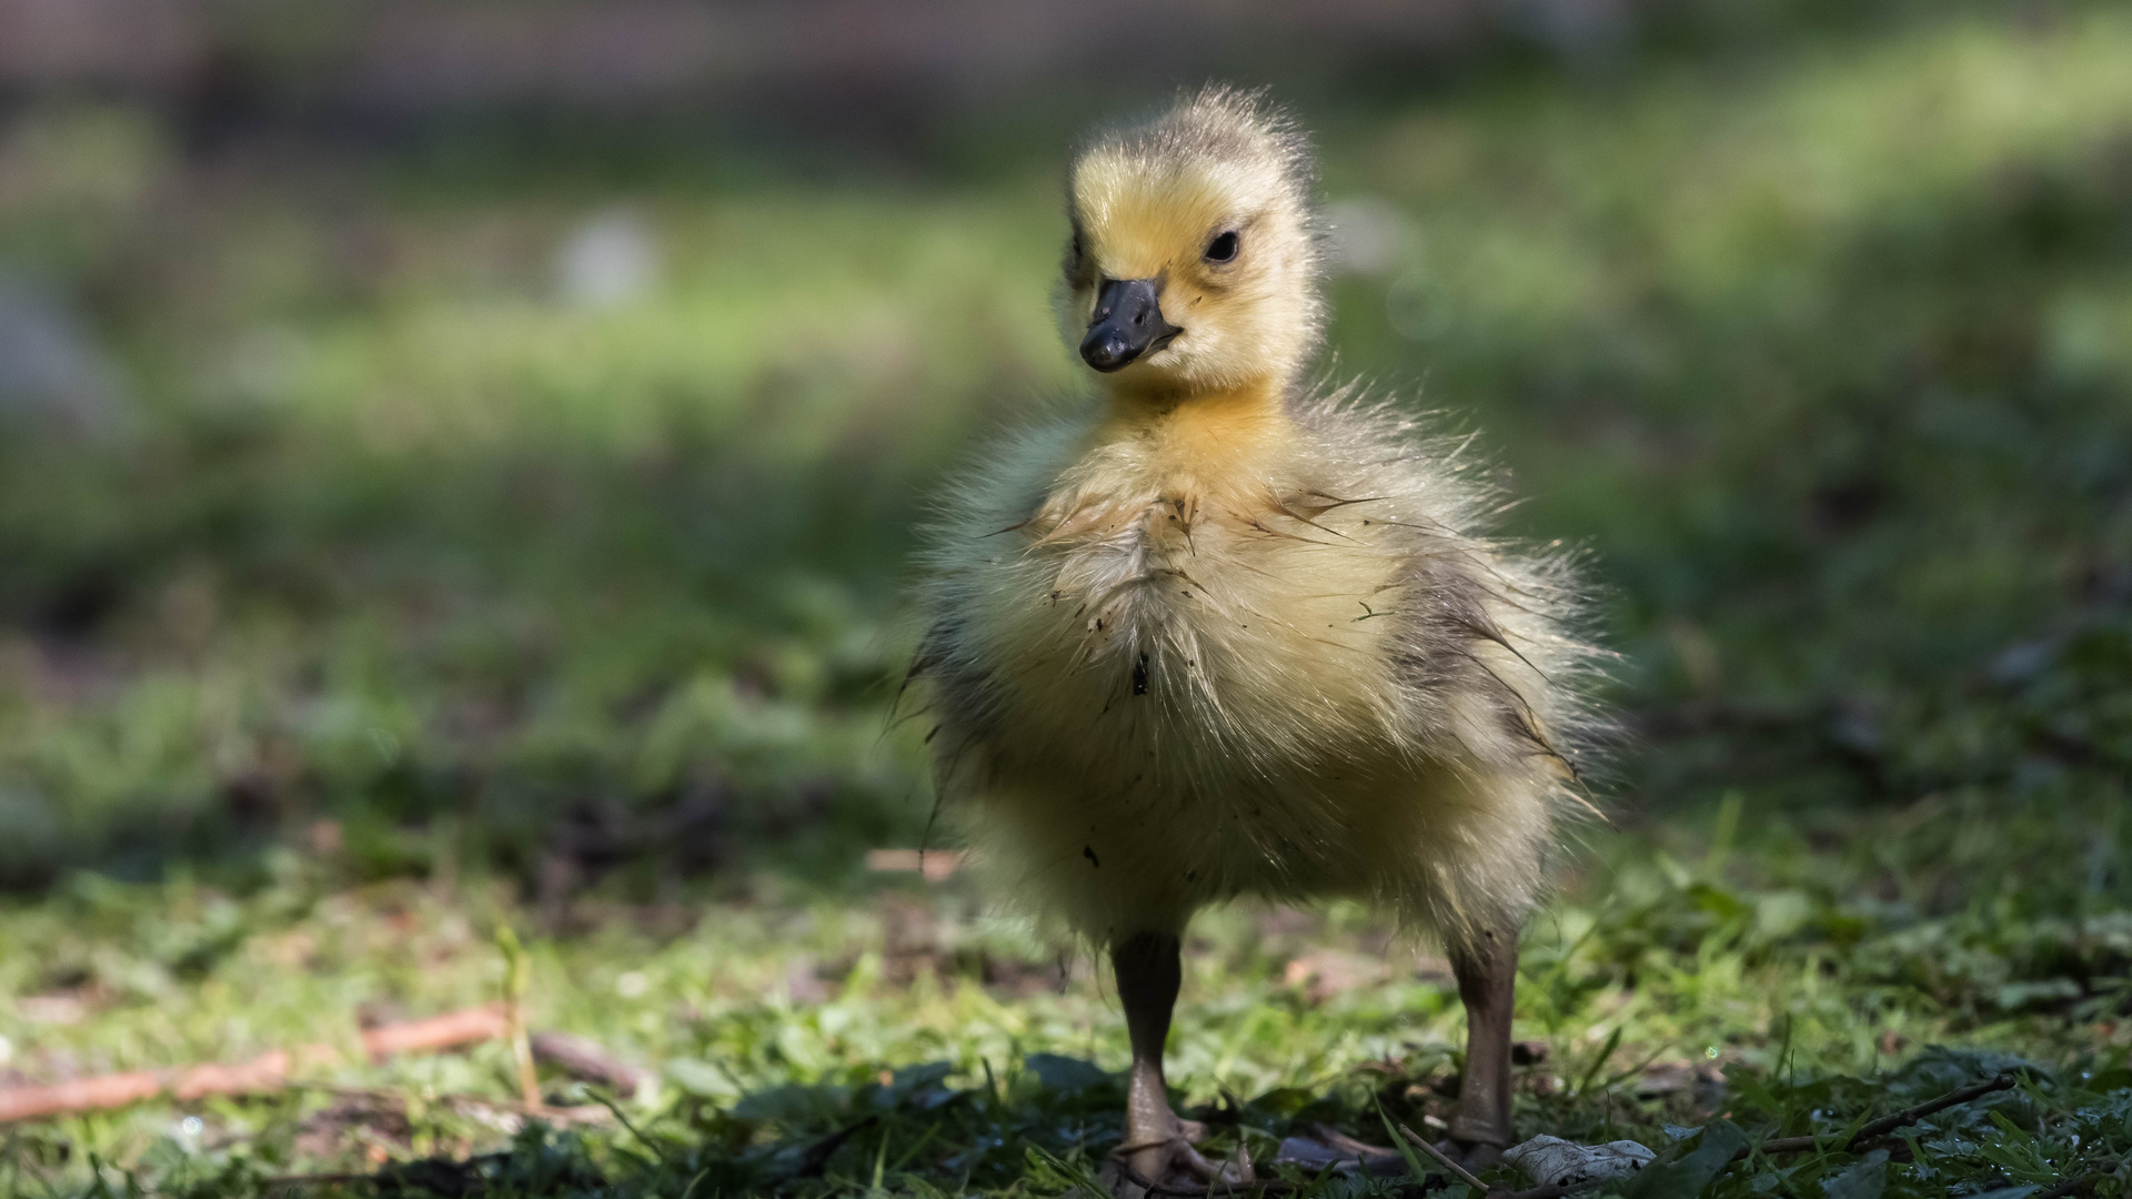
{"type": "Polygon", "coordinates": [[[1286,388],[1264,380],[1222,390],[1113,388],[1096,442],[1130,446],[1158,474],[1215,484],[1262,478],[1290,431],[1286,388]]]}

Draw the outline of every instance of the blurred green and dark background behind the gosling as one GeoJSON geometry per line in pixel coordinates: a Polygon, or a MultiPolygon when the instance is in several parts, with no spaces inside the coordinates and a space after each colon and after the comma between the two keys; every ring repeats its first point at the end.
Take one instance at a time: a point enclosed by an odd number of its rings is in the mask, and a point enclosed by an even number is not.
{"type": "Polygon", "coordinates": [[[32,947],[294,858],[563,939],[872,902],[930,811],[912,523],[1085,388],[1066,147],[1228,77],[1318,134],[1328,373],[1588,548],[1631,736],[1571,900],[1708,856],[1748,907],[1697,920],[1808,958],[1968,920],[1876,994],[2085,1028],[2132,960],[2128,64],[2070,0],[0,4],[0,981],[149,1003],[32,947]]]}

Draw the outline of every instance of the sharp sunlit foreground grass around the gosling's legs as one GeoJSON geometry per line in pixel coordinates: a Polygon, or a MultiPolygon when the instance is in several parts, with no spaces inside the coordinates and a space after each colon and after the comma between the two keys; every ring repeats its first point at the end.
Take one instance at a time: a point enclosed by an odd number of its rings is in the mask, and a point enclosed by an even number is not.
{"type": "MultiPolygon", "coordinates": [[[[1714,853],[1693,866],[1663,853],[1622,860],[1584,888],[1603,900],[1561,905],[1535,926],[1520,1037],[1548,1054],[1520,1071],[1520,1129],[1667,1146],[1680,1137],[1667,1124],[1714,1126],[1723,1114],[1755,1133],[1840,1133],[2021,1069],[2021,1090],[1917,1139],[2004,1148],[1987,1116],[2000,1112],[2034,1161],[2015,1169],[2004,1154],[1934,1150],[1923,1165],[1887,1167],[1891,1184],[1910,1186],[1895,1193],[1947,1193],[1934,1180],[1993,1171],[2055,1182],[2123,1152],[2132,1077],[2128,1037],[2113,1028],[2123,996],[2072,984],[2123,969],[2132,928],[2121,915],[1904,920],[1812,885],[1727,888],[1712,881],[1721,866],[1714,853]],[[1919,1052],[1934,1043],[1964,1050],[1919,1052]]],[[[533,1178],[565,1167],[586,1186],[597,1178],[644,1195],[699,1171],[727,1193],[1055,1193],[1115,1144],[1121,1022],[1087,962],[1062,964],[981,911],[953,883],[887,888],[863,909],[757,896],[676,913],[580,898],[561,915],[576,932],[535,941],[535,1022],[599,1039],[657,1084],[623,1105],[629,1129],[522,1131],[482,1169],[501,1171],[492,1184],[507,1193],[546,1193],[533,1178]],[[863,1135],[806,1161],[868,1116],[863,1135]],[[874,1178],[883,1161],[893,1169],[874,1178]]],[[[492,883],[350,885],[330,860],[288,856],[273,885],[241,900],[190,881],[81,883],[17,913],[9,934],[15,962],[96,979],[77,992],[92,1016],[45,1024],[34,1041],[94,1071],[243,1060],[318,1039],[320,1011],[482,1003],[501,981],[486,934],[497,920],[539,915],[492,883]]],[[[1266,1161],[1311,1120],[1371,1135],[1377,1103],[1405,1122],[1448,1114],[1458,1005],[1433,973],[1441,966],[1396,945],[1386,954],[1388,939],[1350,909],[1200,924],[1170,1056],[1183,1099],[1215,1120],[1217,1146],[1266,1161]],[[1320,977],[1298,977],[1296,960],[1320,977]]],[[[548,1092],[588,1101],[563,1075],[548,1092]]],[[[465,1161],[507,1144],[512,1094],[510,1056],[495,1043],[322,1069],[275,1101],[17,1126],[11,1182],[81,1178],[87,1154],[181,1193],[252,1190],[292,1169],[465,1161]]],[[[1804,1184],[1855,1161],[1780,1165],[1804,1171],[1804,1184]]]]}

